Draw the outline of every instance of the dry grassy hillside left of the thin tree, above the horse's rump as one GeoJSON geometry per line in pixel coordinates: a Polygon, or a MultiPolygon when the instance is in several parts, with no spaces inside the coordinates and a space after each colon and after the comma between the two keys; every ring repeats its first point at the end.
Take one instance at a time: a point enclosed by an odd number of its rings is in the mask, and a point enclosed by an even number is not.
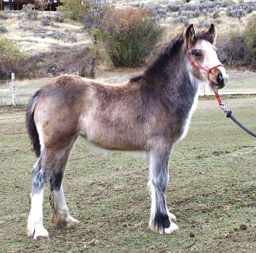
{"type": "Polygon", "coordinates": [[[27,52],[24,76],[39,77],[50,74],[76,72],[81,55],[89,41],[78,23],[57,20],[58,13],[37,11],[36,20],[23,12],[0,12],[6,33],[0,36],[16,41],[27,52]],[[43,20],[49,20],[45,25],[43,20]]]}

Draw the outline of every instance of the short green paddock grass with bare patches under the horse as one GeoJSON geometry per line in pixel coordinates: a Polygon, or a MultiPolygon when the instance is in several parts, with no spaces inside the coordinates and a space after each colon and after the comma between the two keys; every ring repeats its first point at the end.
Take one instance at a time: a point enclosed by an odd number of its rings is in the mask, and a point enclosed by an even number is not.
{"type": "MultiPolygon", "coordinates": [[[[256,131],[256,95],[223,100],[256,131]]],[[[121,152],[105,156],[79,138],[64,177],[76,229],[55,229],[44,197],[49,241],[27,238],[31,169],[25,107],[0,107],[0,252],[253,253],[256,248],[256,140],[224,117],[213,98],[200,99],[187,137],[171,155],[168,207],[180,233],[148,229],[148,160],[121,152]],[[195,237],[190,237],[193,233],[195,237]]]]}

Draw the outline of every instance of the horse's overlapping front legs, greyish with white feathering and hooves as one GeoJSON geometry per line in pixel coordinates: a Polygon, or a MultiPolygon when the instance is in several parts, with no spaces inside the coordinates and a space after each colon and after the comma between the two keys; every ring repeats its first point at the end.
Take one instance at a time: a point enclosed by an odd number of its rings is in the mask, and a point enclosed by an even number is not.
{"type": "Polygon", "coordinates": [[[159,145],[150,151],[148,187],[151,191],[151,214],[149,227],[154,232],[174,234],[179,231],[173,222],[175,216],[166,207],[166,187],[169,180],[168,162],[172,147],[159,145]]]}

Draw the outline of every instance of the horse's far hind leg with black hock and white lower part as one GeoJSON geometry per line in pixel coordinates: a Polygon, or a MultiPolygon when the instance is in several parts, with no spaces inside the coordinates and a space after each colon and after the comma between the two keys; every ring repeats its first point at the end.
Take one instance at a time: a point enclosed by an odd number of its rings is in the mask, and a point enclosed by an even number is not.
{"type": "MultiPolygon", "coordinates": [[[[73,144],[72,144],[73,146],[73,144]]],[[[69,147],[64,156],[60,159],[58,166],[55,167],[50,177],[50,189],[52,194],[50,195],[50,201],[53,210],[52,223],[55,227],[75,227],[79,223],[76,219],[70,216],[67,208],[67,204],[64,197],[62,178],[64,175],[64,169],[67,164],[67,159],[72,147],[69,147]]]]}

